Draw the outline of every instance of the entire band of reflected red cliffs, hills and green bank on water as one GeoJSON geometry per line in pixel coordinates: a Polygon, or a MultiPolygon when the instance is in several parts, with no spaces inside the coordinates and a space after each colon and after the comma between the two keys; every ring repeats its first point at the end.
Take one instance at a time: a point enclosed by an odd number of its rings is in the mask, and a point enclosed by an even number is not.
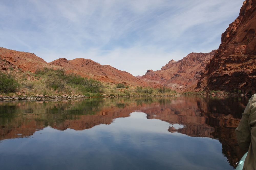
{"type": "Polygon", "coordinates": [[[240,150],[234,129],[237,127],[247,98],[92,98],[66,101],[0,102],[0,140],[28,137],[46,126],[65,130],[89,129],[110,124],[134,111],[148,119],[185,125],[178,132],[194,137],[216,138],[232,166],[244,153],[240,150]]]}

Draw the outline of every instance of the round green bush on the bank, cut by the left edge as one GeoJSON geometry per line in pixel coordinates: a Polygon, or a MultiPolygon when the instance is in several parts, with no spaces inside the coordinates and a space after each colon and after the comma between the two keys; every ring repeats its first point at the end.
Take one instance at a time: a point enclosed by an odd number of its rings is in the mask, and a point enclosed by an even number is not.
{"type": "Polygon", "coordinates": [[[15,92],[18,88],[18,82],[12,77],[11,74],[0,73],[0,92],[10,93],[15,92]]]}

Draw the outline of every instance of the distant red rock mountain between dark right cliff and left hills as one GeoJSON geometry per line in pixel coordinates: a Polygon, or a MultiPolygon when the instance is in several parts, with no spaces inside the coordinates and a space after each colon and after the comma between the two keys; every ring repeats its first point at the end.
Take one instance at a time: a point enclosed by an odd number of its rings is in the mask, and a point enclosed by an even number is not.
{"type": "Polygon", "coordinates": [[[215,51],[190,53],[177,62],[171,60],[161,70],[148,70],[140,80],[160,83],[179,92],[186,91],[189,87],[196,86],[201,72],[205,70],[206,64],[214,56],[215,51]]]}

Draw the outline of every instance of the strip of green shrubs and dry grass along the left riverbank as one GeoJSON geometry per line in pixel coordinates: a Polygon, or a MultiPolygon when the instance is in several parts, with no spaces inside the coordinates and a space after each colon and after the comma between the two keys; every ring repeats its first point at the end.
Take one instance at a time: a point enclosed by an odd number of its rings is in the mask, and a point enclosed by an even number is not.
{"type": "Polygon", "coordinates": [[[125,82],[102,83],[74,73],[67,74],[63,69],[53,68],[38,69],[35,73],[21,69],[9,69],[7,74],[1,72],[0,88],[0,95],[6,96],[80,94],[93,97],[176,94],[175,90],[167,87],[128,86],[125,82]]]}

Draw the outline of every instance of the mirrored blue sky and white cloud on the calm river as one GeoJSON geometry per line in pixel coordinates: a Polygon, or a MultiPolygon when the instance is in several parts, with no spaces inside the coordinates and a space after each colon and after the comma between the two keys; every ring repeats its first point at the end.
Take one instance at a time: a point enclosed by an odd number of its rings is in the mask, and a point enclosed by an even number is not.
{"type": "Polygon", "coordinates": [[[170,126],[183,128],[134,112],[87,130],[46,127],[2,140],[0,169],[232,169],[218,140],[170,133],[170,126]]]}

